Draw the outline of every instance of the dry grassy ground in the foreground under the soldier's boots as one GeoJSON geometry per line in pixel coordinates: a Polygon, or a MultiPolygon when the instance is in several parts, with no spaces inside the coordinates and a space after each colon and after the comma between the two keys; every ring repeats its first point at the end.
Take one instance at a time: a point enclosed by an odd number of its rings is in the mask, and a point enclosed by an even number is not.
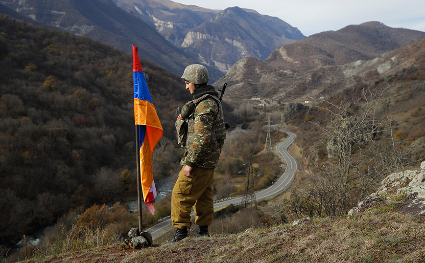
{"type": "Polygon", "coordinates": [[[353,218],[317,218],[232,235],[212,232],[210,238],[142,250],[115,245],[26,262],[425,262],[425,219],[397,207],[389,203],[353,218]]]}

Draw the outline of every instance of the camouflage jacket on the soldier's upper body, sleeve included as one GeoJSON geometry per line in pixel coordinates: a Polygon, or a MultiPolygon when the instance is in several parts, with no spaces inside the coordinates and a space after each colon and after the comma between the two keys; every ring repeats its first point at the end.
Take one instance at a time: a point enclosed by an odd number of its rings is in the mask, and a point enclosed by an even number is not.
{"type": "MultiPolygon", "coordinates": [[[[188,123],[188,133],[185,153],[180,161],[181,165],[202,168],[215,168],[217,166],[225,133],[220,139],[216,139],[214,125],[220,127],[220,124],[222,124],[221,126],[224,129],[224,118],[221,103],[218,97],[215,97],[216,99],[209,97],[201,100],[193,114],[185,120],[188,123]]],[[[196,102],[196,99],[194,101],[196,102]]]]}

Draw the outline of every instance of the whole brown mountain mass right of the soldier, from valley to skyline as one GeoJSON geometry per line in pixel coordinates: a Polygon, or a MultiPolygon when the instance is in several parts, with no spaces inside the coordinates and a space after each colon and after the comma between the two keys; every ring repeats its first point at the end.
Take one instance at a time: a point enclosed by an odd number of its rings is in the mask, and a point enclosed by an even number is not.
{"type": "Polygon", "coordinates": [[[264,61],[254,57],[241,59],[215,85],[221,87],[227,82],[226,97],[233,99],[262,97],[288,101],[296,97],[301,101],[328,96],[335,88],[352,87],[354,79],[376,81],[362,79],[358,74],[345,75],[347,67],[372,60],[368,63],[374,65],[370,74],[378,78],[383,72],[377,68],[385,68],[386,63],[378,56],[424,37],[425,32],[391,28],[380,22],[350,25],[280,46],[264,61]]]}

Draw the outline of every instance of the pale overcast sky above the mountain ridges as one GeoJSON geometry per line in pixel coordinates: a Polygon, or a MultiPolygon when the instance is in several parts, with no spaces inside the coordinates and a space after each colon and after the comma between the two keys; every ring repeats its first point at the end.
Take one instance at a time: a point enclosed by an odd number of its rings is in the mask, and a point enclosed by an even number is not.
{"type": "Polygon", "coordinates": [[[278,17],[310,36],[378,21],[425,32],[425,0],[173,0],[210,9],[239,6],[278,17]]]}

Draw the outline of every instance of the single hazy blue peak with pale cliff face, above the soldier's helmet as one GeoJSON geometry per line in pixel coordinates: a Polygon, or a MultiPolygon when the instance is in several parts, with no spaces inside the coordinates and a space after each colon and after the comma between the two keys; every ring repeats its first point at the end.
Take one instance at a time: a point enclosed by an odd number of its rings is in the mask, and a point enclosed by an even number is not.
{"type": "Polygon", "coordinates": [[[254,56],[263,60],[279,45],[302,38],[297,28],[278,18],[236,6],[191,29],[181,46],[201,62],[227,72],[239,59],[254,56]]]}

